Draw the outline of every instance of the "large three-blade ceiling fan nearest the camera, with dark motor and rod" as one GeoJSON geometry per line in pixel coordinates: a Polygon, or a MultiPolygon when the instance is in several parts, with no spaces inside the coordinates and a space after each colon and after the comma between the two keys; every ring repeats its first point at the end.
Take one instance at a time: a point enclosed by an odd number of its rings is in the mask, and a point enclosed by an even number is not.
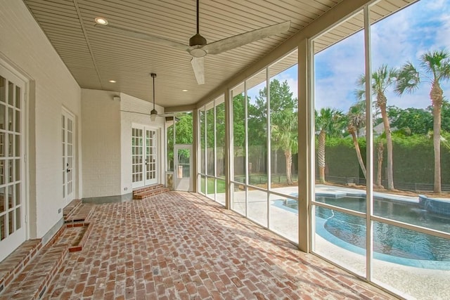
{"type": "Polygon", "coordinates": [[[233,48],[238,48],[245,44],[259,41],[259,39],[264,39],[266,37],[271,37],[274,34],[286,32],[290,28],[290,21],[285,21],[268,27],[260,28],[258,30],[253,30],[250,32],[245,32],[243,34],[235,35],[233,37],[228,37],[226,39],[221,39],[219,41],[213,41],[212,43],[207,44],[206,39],[199,33],[199,0],[197,0],[197,33],[194,34],[191,39],[189,39],[189,46],[181,44],[177,41],[165,39],[163,37],[155,37],[143,32],[110,25],[108,24],[108,21],[103,18],[96,18],[96,22],[97,25],[104,25],[101,27],[110,32],[124,34],[128,37],[152,41],[154,43],[187,51],[192,56],[191,65],[198,84],[205,83],[204,58],[207,54],[219,54],[225,51],[229,51],[233,48]]]}

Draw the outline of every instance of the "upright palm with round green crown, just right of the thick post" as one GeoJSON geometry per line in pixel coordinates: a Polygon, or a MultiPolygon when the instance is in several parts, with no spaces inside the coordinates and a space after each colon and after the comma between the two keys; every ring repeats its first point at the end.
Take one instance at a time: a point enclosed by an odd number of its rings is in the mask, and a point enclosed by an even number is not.
{"type": "Polygon", "coordinates": [[[319,131],[319,150],[317,150],[317,162],[319,164],[319,181],[325,181],[325,141],[326,135],[335,134],[342,129],[342,112],[330,107],[316,111],[316,131],[319,131]]]}

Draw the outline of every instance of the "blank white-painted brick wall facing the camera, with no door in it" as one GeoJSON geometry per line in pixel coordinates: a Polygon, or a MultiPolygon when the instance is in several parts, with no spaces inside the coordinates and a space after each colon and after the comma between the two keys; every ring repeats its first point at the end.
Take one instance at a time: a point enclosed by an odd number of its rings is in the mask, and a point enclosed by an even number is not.
{"type": "Polygon", "coordinates": [[[83,198],[121,195],[117,95],[82,89],[83,198]]]}

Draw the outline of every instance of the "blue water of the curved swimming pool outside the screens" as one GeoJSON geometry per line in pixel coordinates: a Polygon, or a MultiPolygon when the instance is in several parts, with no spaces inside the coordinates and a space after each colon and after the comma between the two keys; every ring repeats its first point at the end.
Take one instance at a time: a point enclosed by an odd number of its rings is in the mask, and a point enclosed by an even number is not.
{"type": "MultiPolygon", "coordinates": [[[[366,211],[364,197],[316,197],[316,201],[354,211],[366,211]]],[[[298,210],[296,201],[283,203],[283,205],[298,210]]],[[[415,203],[375,199],[373,211],[376,216],[450,232],[449,219],[428,214],[427,211],[419,209],[418,204],[415,203]]],[[[316,207],[316,217],[326,220],[324,227],[328,233],[349,244],[365,249],[365,219],[324,207],[316,207]]],[[[321,235],[320,230],[317,231],[321,235]]],[[[449,240],[380,222],[373,222],[373,249],[375,253],[404,259],[450,261],[449,240]]]]}

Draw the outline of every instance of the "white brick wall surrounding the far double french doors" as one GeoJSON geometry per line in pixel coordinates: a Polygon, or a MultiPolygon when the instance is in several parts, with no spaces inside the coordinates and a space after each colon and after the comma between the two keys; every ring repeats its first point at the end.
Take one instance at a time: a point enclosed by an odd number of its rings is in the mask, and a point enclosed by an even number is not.
{"type": "MultiPolygon", "coordinates": [[[[158,132],[158,182],[165,183],[165,118],[157,117],[155,122],[150,120],[150,112],[153,110],[153,103],[129,96],[125,93],[120,94],[120,110],[122,119],[121,137],[122,137],[122,194],[131,193],[131,125],[141,124],[149,129],[156,129],[158,132]]],[[[155,105],[158,113],[163,113],[164,108],[155,105]]]]}

